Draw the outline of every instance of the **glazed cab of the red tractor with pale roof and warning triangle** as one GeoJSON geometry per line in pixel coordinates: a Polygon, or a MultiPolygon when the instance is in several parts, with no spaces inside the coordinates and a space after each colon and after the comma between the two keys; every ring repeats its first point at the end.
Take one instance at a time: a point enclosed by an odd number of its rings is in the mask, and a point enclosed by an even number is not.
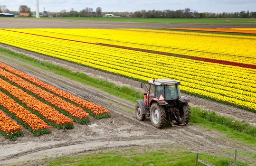
{"type": "Polygon", "coordinates": [[[149,90],[144,95],[145,104],[150,107],[152,102],[166,105],[173,100],[179,100],[180,82],[169,79],[153,79],[149,81],[149,90]]]}

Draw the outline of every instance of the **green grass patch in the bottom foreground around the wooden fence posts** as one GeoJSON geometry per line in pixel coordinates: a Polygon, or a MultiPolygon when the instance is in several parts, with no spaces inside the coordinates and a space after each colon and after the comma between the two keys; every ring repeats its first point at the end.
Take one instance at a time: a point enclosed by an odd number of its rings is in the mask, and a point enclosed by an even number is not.
{"type": "MultiPolygon", "coordinates": [[[[199,153],[199,159],[214,166],[233,166],[229,157],[199,153]]],[[[195,160],[196,153],[180,149],[130,148],[62,157],[50,160],[47,166],[194,166],[195,160]]],[[[198,162],[198,166],[204,165],[198,162]]],[[[237,161],[237,166],[249,165],[237,161]]]]}

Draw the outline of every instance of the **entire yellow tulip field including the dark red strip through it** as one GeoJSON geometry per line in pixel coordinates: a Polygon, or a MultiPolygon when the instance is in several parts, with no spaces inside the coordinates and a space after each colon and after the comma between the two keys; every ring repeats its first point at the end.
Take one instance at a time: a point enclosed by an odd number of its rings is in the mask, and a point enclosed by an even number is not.
{"type": "Polygon", "coordinates": [[[0,29],[0,43],[256,111],[256,36],[148,29],[0,29]]]}

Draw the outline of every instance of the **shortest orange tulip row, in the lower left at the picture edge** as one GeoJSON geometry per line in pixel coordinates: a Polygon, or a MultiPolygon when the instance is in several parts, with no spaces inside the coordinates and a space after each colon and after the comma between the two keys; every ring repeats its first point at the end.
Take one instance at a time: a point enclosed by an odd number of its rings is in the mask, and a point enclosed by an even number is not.
{"type": "Polygon", "coordinates": [[[3,111],[0,110],[0,133],[5,138],[15,139],[23,136],[22,127],[9,118],[3,111]]]}

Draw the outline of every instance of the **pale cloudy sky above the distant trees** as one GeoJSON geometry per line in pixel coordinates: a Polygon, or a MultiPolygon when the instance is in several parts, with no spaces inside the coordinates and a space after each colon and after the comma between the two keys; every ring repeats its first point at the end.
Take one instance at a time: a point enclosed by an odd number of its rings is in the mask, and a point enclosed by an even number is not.
{"type": "MultiPolygon", "coordinates": [[[[36,10],[36,0],[0,0],[9,10],[19,10],[19,5],[27,5],[36,10]]],[[[60,11],[71,8],[79,11],[86,7],[101,7],[102,11],[136,11],[141,9],[185,9],[198,12],[256,11],[256,0],[39,0],[39,11],[60,11]]]]}

